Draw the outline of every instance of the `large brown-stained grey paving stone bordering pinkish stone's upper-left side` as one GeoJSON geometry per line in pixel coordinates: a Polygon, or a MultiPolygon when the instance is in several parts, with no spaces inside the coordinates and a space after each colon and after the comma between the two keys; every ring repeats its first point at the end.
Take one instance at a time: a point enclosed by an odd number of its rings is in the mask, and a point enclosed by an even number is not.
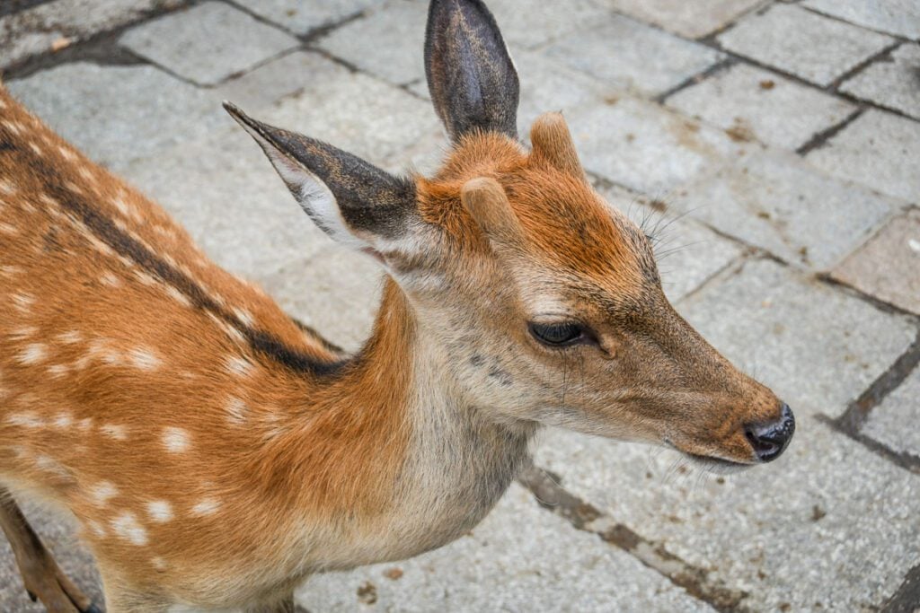
{"type": "Polygon", "coordinates": [[[672,206],[787,262],[827,270],[903,202],[826,176],[792,153],[758,152],[681,188],[672,206]]]}

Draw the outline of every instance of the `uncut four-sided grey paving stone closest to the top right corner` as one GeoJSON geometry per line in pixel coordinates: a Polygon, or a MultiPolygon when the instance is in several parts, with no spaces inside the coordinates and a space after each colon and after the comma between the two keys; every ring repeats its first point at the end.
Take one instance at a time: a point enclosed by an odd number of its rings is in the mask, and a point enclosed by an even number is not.
{"type": "Polygon", "coordinates": [[[818,85],[830,85],[894,42],[883,34],[790,5],[775,5],[764,14],[745,17],[718,40],[729,51],[818,85]]]}

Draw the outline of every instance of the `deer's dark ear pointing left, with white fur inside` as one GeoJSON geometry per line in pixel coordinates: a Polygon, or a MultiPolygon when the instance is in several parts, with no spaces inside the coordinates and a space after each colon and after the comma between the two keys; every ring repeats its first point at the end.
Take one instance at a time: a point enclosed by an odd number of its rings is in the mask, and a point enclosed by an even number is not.
{"type": "Polygon", "coordinates": [[[224,108],[259,143],[301,208],[340,243],[380,255],[417,215],[415,184],[326,142],[224,108]]]}

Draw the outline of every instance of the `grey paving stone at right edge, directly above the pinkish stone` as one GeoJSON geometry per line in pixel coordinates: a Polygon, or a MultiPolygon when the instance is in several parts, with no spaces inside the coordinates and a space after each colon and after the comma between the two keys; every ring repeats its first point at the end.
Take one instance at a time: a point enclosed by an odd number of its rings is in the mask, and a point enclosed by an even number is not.
{"type": "Polygon", "coordinates": [[[920,123],[869,109],[808,154],[832,175],[920,202],[920,123]]]}

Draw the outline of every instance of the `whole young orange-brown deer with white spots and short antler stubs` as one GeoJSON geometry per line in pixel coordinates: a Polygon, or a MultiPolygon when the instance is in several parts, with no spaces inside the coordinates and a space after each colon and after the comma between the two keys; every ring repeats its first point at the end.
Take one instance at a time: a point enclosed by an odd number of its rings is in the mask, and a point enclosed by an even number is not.
{"type": "Polygon", "coordinates": [[[518,142],[479,0],[433,0],[425,62],[453,142],[431,178],[226,105],[316,224],[385,268],[356,356],[0,94],[0,522],[46,607],[93,610],[10,492],[75,517],[110,611],[288,610],[312,573],[475,526],[541,425],[727,465],[786,447],[788,406],[673,311],[562,117],[518,142]]]}

